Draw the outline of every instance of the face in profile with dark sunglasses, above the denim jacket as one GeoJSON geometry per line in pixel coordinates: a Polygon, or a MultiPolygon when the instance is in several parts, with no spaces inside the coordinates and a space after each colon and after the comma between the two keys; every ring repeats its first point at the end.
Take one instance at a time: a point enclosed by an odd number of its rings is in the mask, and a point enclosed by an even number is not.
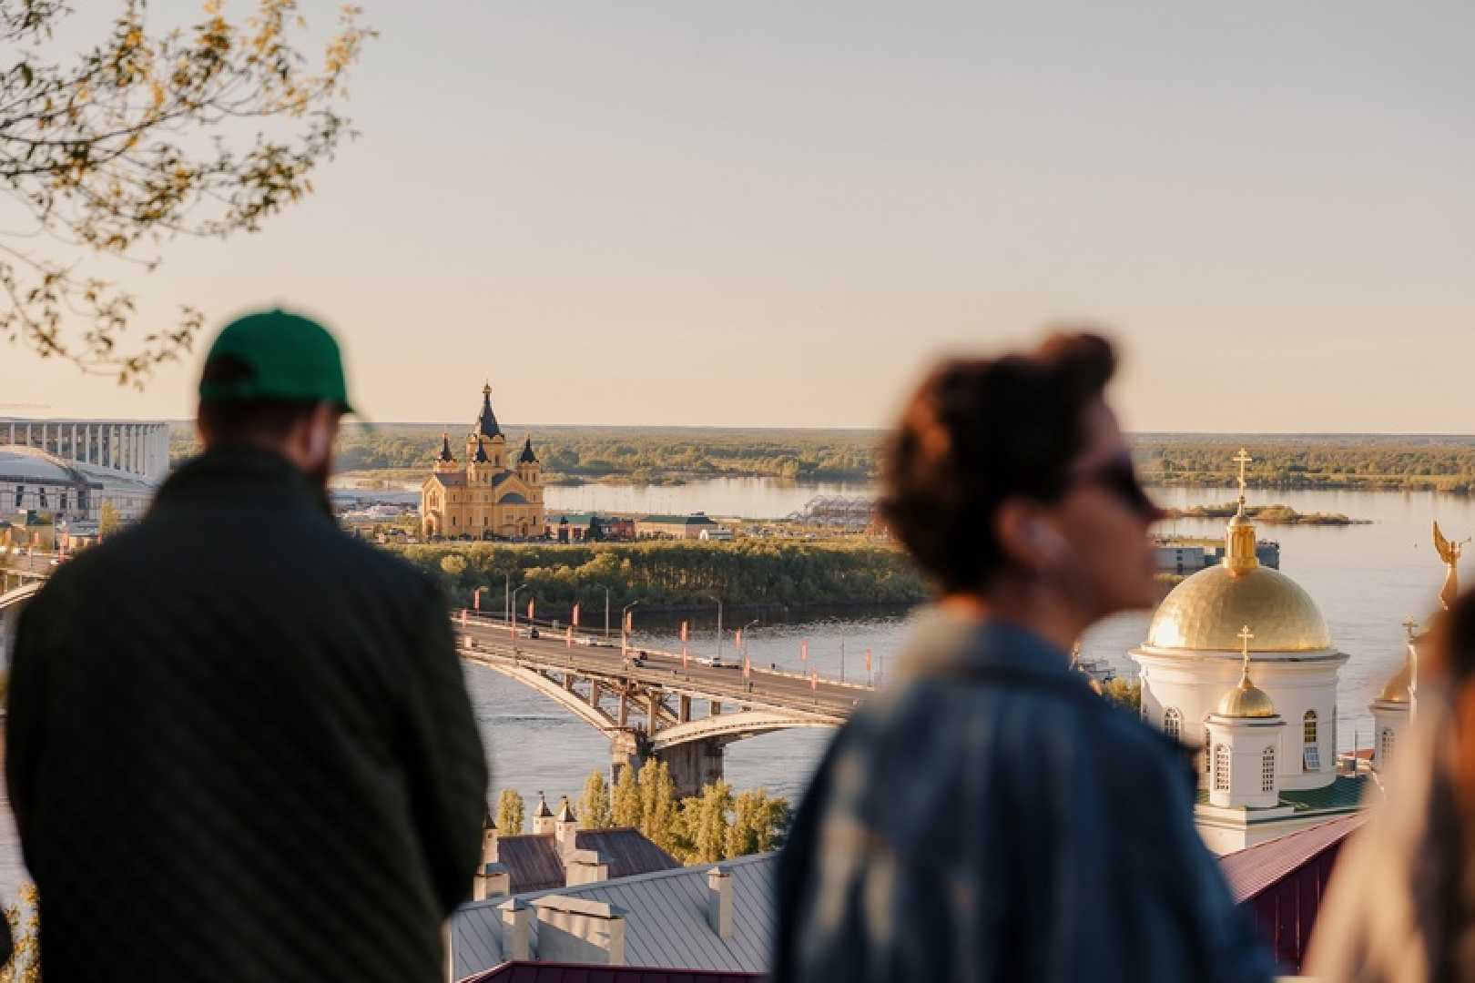
{"type": "Polygon", "coordinates": [[[1148,531],[1161,517],[1142,494],[1117,416],[1097,399],[1086,411],[1086,448],[1071,483],[1052,510],[1052,525],[1071,545],[1071,562],[1096,607],[1093,618],[1152,607],[1156,563],[1148,531]]]}

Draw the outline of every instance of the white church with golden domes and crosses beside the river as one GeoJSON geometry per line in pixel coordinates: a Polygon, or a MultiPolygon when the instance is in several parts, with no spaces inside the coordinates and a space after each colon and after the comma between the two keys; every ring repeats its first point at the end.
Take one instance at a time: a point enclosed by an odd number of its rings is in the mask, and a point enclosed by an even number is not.
{"type": "MultiPolygon", "coordinates": [[[[1369,774],[1339,772],[1336,681],[1347,653],[1311,595],[1255,557],[1239,511],[1224,559],[1164,598],[1148,638],[1131,650],[1140,669],[1142,715],[1201,750],[1195,822],[1215,853],[1356,812],[1369,774]]],[[[1404,668],[1372,704],[1378,769],[1412,716],[1413,638],[1404,668]]]]}

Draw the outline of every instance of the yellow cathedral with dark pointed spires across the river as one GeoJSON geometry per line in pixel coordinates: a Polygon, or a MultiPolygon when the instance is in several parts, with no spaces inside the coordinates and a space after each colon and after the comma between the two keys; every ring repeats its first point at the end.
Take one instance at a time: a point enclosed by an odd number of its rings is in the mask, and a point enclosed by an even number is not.
{"type": "Polygon", "coordinates": [[[435,469],[420,485],[420,534],[426,539],[530,539],[543,535],[543,466],[532,438],[521,452],[507,447],[487,385],[466,435],[465,461],[451,451],[450,432],[441,435],[435,469]]]}

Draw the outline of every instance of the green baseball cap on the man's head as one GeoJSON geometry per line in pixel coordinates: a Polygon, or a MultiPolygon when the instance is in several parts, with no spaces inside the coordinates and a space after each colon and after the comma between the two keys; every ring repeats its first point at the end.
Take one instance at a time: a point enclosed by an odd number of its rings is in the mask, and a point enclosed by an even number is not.
{"type": "Polygon", "coordinates": [[[338,342],[317,321],[282,308],[237,317],[209,346],[199,401],[245,399],[336,402],[353,413],[338,342]]]}

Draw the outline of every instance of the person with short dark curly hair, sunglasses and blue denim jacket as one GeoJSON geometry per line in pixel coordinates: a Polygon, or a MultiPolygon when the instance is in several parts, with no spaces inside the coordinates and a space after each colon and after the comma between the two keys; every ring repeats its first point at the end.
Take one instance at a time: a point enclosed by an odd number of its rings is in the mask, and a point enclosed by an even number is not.
{"type": "Polygon", "coordinates": [[[1270,979],[1184,749],[1069,668],[1156,600],[1114,371],[1103,337],[1055,335],[943,361],[907,402],[881,514],[937,604],[795,818],[776,983],[1270,979]]]}

